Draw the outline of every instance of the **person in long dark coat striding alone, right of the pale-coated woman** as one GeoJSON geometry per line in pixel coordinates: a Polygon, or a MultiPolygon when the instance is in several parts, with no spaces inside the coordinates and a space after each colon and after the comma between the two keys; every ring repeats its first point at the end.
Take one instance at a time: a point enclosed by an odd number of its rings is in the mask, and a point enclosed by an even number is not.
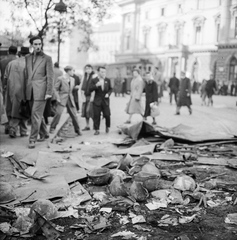
{"type": "Polygon", "coordinates": [[[191,105],[191,82],[190,79],[186,77],[185,72],[181,72],[176,115],[180,115],[180,108],[182,106],[188,107],[189,114],[192,114],[191,105]]]}

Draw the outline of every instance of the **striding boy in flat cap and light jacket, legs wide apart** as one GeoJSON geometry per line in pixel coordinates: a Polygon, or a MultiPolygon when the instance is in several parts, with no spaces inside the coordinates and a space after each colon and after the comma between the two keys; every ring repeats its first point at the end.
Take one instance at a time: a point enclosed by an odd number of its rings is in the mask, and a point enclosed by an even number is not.
{"type": "Polygon", "coordinates": [[[64,71],[66,72],[66,74],[61,77],[58,77],[58,80],[55,84],[56,98],[58,104],[56,107],[55,116],[50,126],[50,133],[54,132],[55,128],[57,127],[60,121],[63,110],[66,107],[72,119],[72,124],[74,126],[75,133],[81,136],[79,122],[77,119],[76,105],[72,95],[73,89],[77,88],[77,86],[75,87],[75,79],[72,77],[73,67],[67,66],[64,68],[64,71]]]}

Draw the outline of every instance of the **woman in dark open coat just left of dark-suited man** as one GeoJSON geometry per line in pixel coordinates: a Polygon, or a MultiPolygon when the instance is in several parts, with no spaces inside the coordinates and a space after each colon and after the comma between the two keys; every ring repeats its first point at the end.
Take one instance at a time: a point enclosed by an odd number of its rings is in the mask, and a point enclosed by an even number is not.
{"type": "Polygon", "coordinates": [[[82,112],[81,116],[86,119],[86,127],[82,131],[90,130],[90,118],[93,119],[93,100],[94,92],[90,91],[91,80],[94,75],[94,71],[91,65],[85,66],[84,78],[81,84],[81,96],[82,96],[82,112]]]}

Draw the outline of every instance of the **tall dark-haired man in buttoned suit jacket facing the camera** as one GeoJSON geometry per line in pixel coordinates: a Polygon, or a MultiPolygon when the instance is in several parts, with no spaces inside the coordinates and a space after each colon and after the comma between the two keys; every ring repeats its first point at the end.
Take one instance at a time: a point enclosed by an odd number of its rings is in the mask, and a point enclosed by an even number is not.
{"type": "Polygon", "coordinates": [[[34,148],[38,135],[38,141],[49,137],[43,113],[47,99],[52,97],[54,73],[51,57],[42,51],[41,38],[31,38],[30,44],[34,51],[26,56],[26,100],[32,105],[29,148],[34,148]]]}

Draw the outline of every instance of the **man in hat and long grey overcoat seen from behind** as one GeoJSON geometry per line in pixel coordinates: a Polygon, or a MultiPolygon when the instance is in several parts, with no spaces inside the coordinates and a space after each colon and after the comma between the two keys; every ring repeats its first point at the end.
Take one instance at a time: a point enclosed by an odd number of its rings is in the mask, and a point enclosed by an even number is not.
{"type": "Polygon", "coordinates": [[[21,101],[25,99],[25,55],[29,53],[29,48],[21,47],[20,58],[11,61],[5,70],[4,81],[7,84],[6,92],[6,112],[9,120],[9,136],[16,137],[17,128],[20,127],[21,137],[27,134],[27,119],[19,114],[21,101]]]}

